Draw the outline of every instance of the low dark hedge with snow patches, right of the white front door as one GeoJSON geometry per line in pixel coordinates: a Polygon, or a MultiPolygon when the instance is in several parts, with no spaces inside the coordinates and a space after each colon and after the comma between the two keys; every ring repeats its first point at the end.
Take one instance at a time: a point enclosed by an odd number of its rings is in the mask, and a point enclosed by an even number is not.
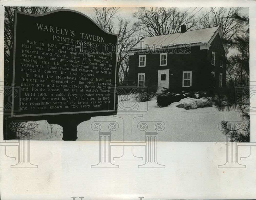
{"type": "Polygon", "coordinates": [[[202,97],[207,97],[207,93],[204,91],[199,91],[199,92],[186,92],[186,91],[182,91],[182,92],[167,92],[161,95],[158,95],[156,97],[157,100],[157,105],[159,107],[167,107],[169,106],[171,103],[174,102],[179,102],[181,99],[190,97],[190,98],[202,98],[202,97]]]}

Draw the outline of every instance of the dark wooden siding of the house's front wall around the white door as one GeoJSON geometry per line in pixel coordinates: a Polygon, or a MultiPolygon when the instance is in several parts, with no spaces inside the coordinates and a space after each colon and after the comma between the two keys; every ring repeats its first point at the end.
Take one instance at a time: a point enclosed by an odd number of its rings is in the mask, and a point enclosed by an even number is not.
{"type": "Polygon", "coordinates": [[[206,50],[192,47],[190,53],[167,53],[167,65],[160,66],[160,53],[136,53],[130,56],[129,80],[137,85],[138,73],[145,73],[145,84],[157,88],[158,71],[169,69],[169,88],[173,90],[188,89],[182,87],[183,71],[192,71],[192,89],[197,90],[199,85],[198,72],[200,65],[206,62],[206,50]],[[146,55],[146,66],[139,67],[139,55],[146,55]]]}

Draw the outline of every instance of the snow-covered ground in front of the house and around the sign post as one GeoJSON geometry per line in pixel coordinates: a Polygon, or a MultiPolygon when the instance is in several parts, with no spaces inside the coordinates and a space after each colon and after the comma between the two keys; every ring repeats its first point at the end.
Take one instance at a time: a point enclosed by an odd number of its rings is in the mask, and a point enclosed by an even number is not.
{"type": "MultiPolygon", "coordinates": [[[[220,121],[242,120],[240,113],[218,112],[215,106],[186,110],[177,108],[177,103],[160,108],[156,104],[156,98],[149,102],[136,102],[132,97],[123,99],[127,101],[119,101],[118,115],[92,117],[89,121],[79,124],[77,140],[98,141],[99,131],[91,128],[92,123],[102,124],[103,131],[108,126],[104,121],[116,121],[119,128],[111,132],[112,141],[145,141],[145,131],[138,129],[138,123],[147,121],[147,124],[152,124],[152,121],[162,121],[165,128],[158,131],[158,141],[225,142],[226,136],[218,129],[220,121]],[[127,109],[131,111],[127,112],[127,109]]],[[[62,140],[62,127],[51,127],[46,121],[37,123],[38,132],[33,134],[31,140],[62,140]]]]}

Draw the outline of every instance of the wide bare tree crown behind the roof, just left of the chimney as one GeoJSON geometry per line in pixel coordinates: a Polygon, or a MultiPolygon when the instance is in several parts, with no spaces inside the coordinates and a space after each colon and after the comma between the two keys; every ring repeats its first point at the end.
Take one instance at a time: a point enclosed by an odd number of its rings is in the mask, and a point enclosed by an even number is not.
{"type": "Polygon", "coordinates": [[[179,11],[178,8],[139,8],[133,16],[139,21],[134,26],[146,32],[147,36],[157,36],[177,33],[181,25],[193,29],[196,20],[189,15],[188,10],[179,11]]]}

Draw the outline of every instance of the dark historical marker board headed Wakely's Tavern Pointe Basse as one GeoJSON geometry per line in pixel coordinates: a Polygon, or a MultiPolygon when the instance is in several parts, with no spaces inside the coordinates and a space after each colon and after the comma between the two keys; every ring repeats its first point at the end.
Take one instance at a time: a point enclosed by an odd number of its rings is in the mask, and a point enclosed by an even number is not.
{"type": "MultiPolygon", "coordinates": [[[[117,35],[72,10],[15,14],[16,116],[115,111],[117,35]]],[[[14,94],[13,94],[14,95],[14,94]]]]}

